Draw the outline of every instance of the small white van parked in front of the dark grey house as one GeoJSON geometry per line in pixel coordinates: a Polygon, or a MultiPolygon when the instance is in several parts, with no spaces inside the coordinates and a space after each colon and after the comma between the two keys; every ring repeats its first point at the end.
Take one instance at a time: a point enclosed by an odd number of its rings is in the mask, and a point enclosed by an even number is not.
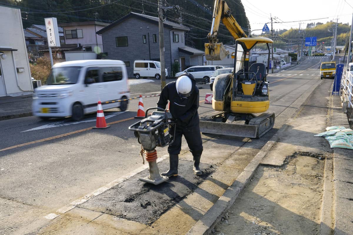
{"type": "MultiPolygon", "coordinates": [[[[167,69],[166,76],[168,76],[167,69]]],[[[161,62],[152,60],[136,60],[133,62],[133,75],[139,78],[161,79],[161,62]]]]}

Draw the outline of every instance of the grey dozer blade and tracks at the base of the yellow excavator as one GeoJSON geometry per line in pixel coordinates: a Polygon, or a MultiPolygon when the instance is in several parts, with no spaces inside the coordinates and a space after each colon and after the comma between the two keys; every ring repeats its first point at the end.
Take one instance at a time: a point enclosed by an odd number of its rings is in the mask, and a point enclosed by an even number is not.
{"type": "Polygon", "coordinates": [[[265,112],[253,117],[251,114],[241,115],[217,111],[200,117],[200,131],[209,134],[260,138],[273,128],[274,123],[274,113],[265,112]],[[227,116],[234,117],[233,121],[249,120],[249,124],[231,123],[229,118],[226,119],[227,116]]]}

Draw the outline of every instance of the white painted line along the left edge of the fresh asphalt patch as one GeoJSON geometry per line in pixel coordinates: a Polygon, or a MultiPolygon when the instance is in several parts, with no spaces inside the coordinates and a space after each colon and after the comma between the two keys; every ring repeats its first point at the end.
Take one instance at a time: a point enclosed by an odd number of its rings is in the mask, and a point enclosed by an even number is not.
{"type": "MultiPolygon", "coordinates": [[[[163,156],[161,156],[161,157],[158,157],[158,158],[157,158],[157,163],[160,162],[160,161],[163,161],[163,160],[166,159],[167,157],[169,157],[168,154],[163,155],[163,156]]],[[[122,177],[120,177],[120,178],[118,178],[118,179],[116,179],[116,180],[113,180],[112,182],[110,182],[110,183],[104,185],[103,187],[98,188],[97,190],[95,190],[95,191],[93,191],[93,192],[91,192],[91,193],[89,193],[89,194],[86,194],[86,195],[83,196],[82,198],[77,199],[76,201],[73,201],[73,202],[71,202],[70,204],[63,206],[62,208],[56,210],[56,212],[57,212],[57,213],[60,213],[60,214],[64,214],[64,213],[66,213],[67,211],[72,210],[73,208],[75,208],[77,205],[82,204],[82,203],[88,201],[90,198],[92,198],[92,197],[94,197],[94,196],[97,196],[97,195],[103,193],[104,191],[107,191],[109,188],[112,188],[112,187],[114,187],[115,185],[120,184],[121,182],[123,182],[123,181],[125,181],[125,180],[127,180],[127,179],[129,179],[129,178],[131,178],[131,177],[133,177],[134,175],[136,175],[136,174],[142,172],[143,170],[145,170],[145,169],[147,169],[147,168],[148,168],[148,164],[144,164],[144,165],[140,166],[139,168],[136,168],[136,169],[134,169],[133,171],[129,172],[127,175],[124,175],[124,176],[122,176],[122,177]]],[[[54,213],[51,213],[51,214],[49,214],[49,215],[47,215],[47,216],[44,216],[44,218],[47,218],[47,219],[54,219],[54,218],[56,218],[56,217],[58,217],[58,216],[59,216],[59,215],[56,215],[56,214],[54,214],[54,213]]]]}

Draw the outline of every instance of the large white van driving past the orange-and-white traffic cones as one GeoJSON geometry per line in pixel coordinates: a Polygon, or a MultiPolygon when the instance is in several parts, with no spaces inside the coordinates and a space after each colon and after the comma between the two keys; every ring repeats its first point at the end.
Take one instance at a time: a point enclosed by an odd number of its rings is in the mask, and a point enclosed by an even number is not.
{"type": "Polygon", "coordinates": [[[102,102],[103,110],[120,107],[125,111],[129,98],[124,62],[68,61],[55,64],[47,85],[34,89],[32,112],[42,119],[71,116],[80,120],[86,113],[97,112],[98,101],[102,102]]]}

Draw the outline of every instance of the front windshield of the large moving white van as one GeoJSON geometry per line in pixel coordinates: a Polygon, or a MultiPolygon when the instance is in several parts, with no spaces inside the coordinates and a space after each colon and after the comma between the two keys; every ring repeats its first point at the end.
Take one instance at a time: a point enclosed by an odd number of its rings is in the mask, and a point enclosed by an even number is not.
{"type": "Polygon", "coordinates": [[[47,85],[76,84],[82,67],[52,68],[47,79],[47,85]]]}

